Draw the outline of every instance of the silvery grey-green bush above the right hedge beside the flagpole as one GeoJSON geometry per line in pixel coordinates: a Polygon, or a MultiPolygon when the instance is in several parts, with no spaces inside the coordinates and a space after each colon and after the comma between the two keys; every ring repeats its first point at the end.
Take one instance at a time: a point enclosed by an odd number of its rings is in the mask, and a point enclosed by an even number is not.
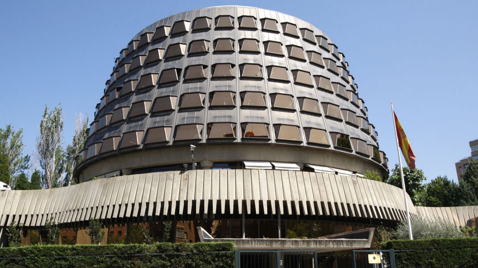
{"type": "MultiPolygon", "coordinates": [[[[440,218],[430,220],[421,215],[412,220],[412,233],[413,239],[464,237],[463,233],[449,221],[440,218]]],[[[402,221],[392,232],[394,239],[408,239],[408,234],[406,221],[402,221]]]]}

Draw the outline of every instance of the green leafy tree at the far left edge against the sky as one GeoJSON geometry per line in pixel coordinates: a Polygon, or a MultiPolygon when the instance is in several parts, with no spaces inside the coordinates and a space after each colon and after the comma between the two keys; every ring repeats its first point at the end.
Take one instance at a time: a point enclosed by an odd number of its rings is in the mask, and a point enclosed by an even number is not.
{"type": "Polygon", "coordinates": [[[15,178],[22,171],[28,168],[29,155],[23,155],[23,130],[15,131],[8,124],[5,129],[0,128],[0,154],[5,156],[9,171],[9,179],[5,181],[12,188],[15,186],[15,178]]]}

